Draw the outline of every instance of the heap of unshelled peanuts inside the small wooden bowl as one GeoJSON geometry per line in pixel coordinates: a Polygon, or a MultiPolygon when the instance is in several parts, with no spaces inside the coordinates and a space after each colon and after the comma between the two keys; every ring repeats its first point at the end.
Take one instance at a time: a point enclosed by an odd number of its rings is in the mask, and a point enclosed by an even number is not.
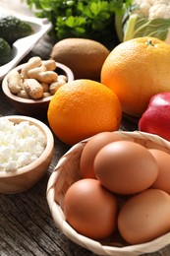
{"type": "Polygon", "coordinates": [[[7,76],[7,83],[12,94],[24,98],[39,99],[52,96],[62,85],[67,83],[67,77],[58,75],[54,60],[41,60],[31,57],[21,71],[13,70],[7,76]]]}

